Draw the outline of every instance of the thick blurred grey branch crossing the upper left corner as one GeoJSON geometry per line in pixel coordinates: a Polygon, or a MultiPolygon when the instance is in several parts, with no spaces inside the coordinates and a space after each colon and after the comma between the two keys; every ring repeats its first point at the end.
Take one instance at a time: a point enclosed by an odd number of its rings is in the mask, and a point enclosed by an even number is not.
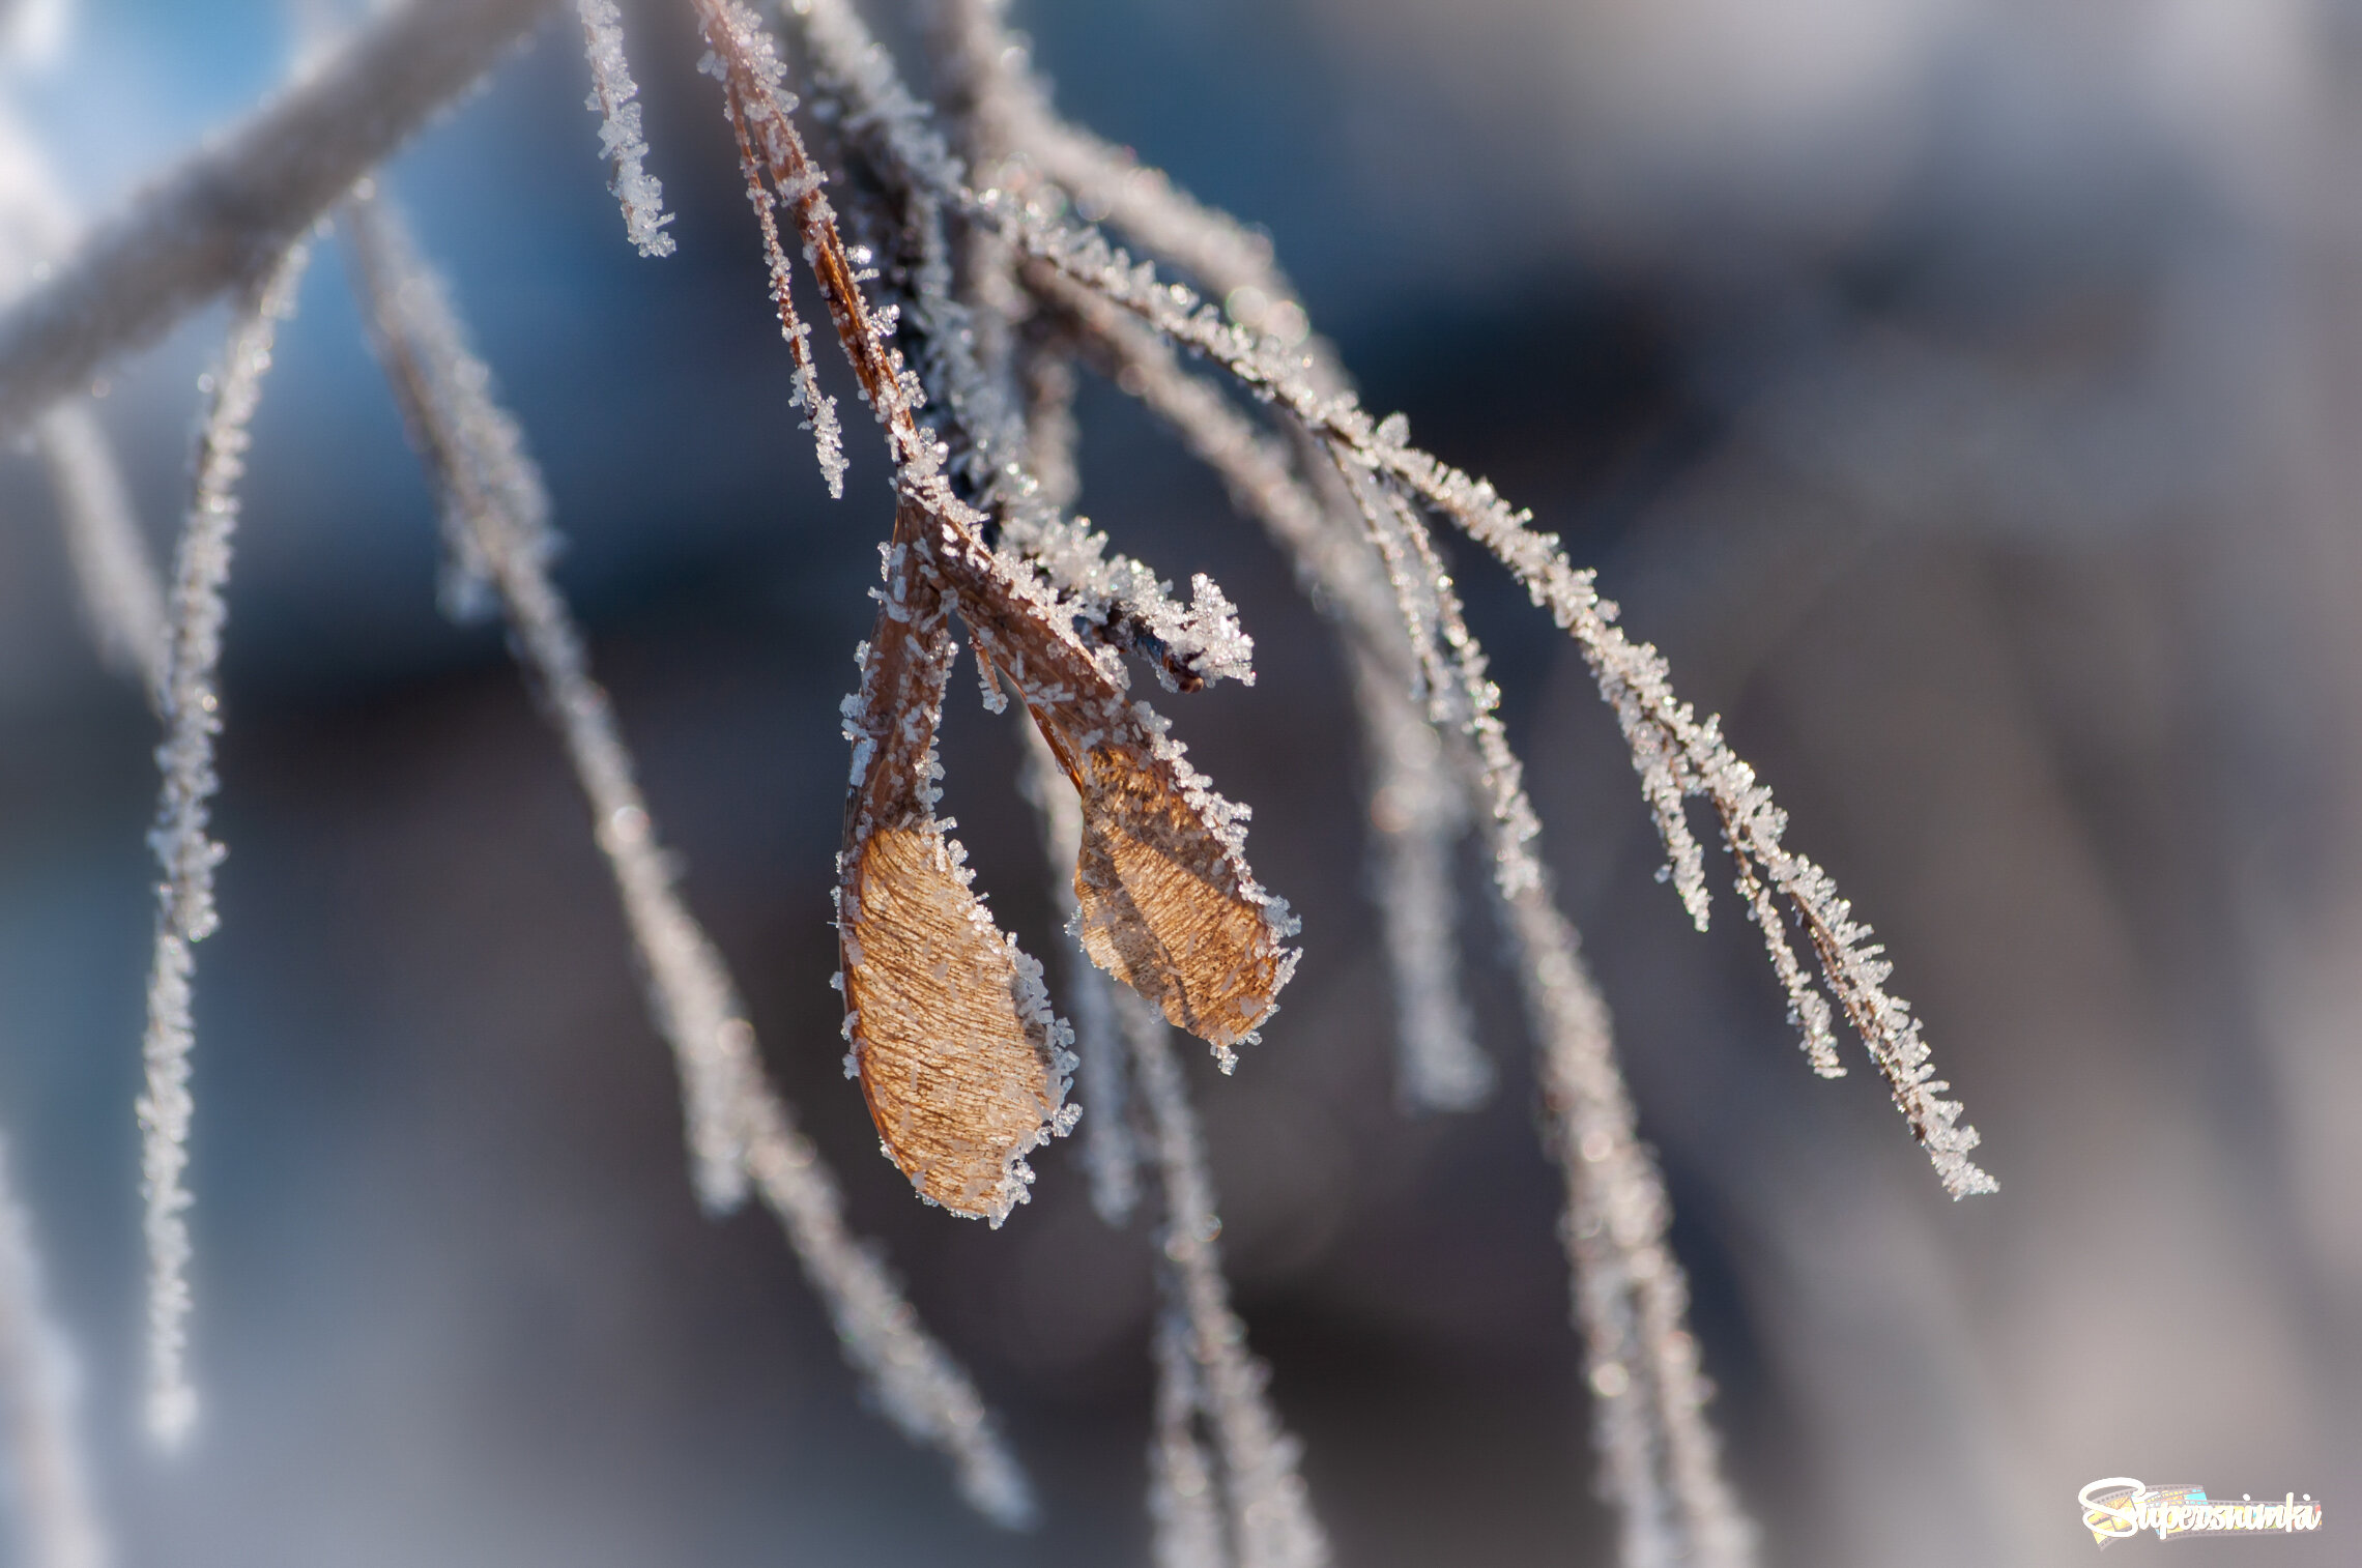
{"type": "Polygon", "coordinates": [[[80,392],[118,354],[250,286],[550,0],[409,0],[276,102],[144,184],[0,312],[0,432],[80,392]]]}

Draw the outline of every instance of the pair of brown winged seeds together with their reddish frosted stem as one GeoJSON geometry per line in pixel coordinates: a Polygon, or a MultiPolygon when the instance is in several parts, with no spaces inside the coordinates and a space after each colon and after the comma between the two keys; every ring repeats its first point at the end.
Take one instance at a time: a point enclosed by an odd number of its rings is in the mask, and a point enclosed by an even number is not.
{"type": "MultiPolygon", "coordinates": [[[[784,205],[895,458],[888,590],[862,659],[862,690],[846,708],[855,793],[839,869],[839,933],[850,1065],[888,1157],[921,1193],[961,1214],[1006,1219],[1023,1193],[1023,1152],[1039,1143],[1042,1129],[1056,1131],[1058,1119],[1039,1063],[1063,1072],[1056,1065],[1063,1046],[1044,1056],[1030,1030],[1063,1025],[1049,1018],[1046,999],[1035,1001],[1039,968],[992,928],[933,819],[933,732],[950,678],[945,600],[980,654],[1018,687],[1082,793],[1075,893],[1094,961],[1228,1063],[1233,1046],[1271,1015],[1294,971],[1285,947],[1294,916],[1247,871],[1245,810],[1207,789],[1155,711],[1124,699],[1117,654],[1087,647],[1058,593],[1027,564],[985,545],[985,517],[952,494],[942,446],[919,427],[921,392],[888,342],[895,316],[862,293],[820,172],[789,118],[794,97],[770,38],[730,0],[702,0],[699,19],[711,45],[706,68],[725,87],[765,229],[775,293],[787,298],[784,248],[770,239],[772,205],[784,205]],[[959,966],[973,966],[964,973],[983,987],[983,1001],[961,997],[961,1006],[992,1020],[983,1027],[994,1044],[973,1053],[973,1041],[947,1039],[957,1027],[980,1025],[952,1006],[947,978],[959,966]],[[1016,989],[1009,975],[1020,978],[1016,989]],[[999,1015],[1004,994],[1013,1008],[1009,1023],[999,1015]],[[957,1020],[952,1030],[947,1020],[957,1020]],[[954,1129],[947,1117],[964,1096],[980,1096],[971,1110],[992,1105],[994,1115],[976,1129],[954,1129]],[[1030,1096],[1032,1108],[1016,1112],[1011,1096],[1030,1096]]],[[[794,326],[789,340],[801,345],[794,326]]],[[[1219,597],[1209,588],[1200,597],[1219,597]]],[[[1242,654],[1245,638],[1235,642],[1224,652],[1242,654]]]]}

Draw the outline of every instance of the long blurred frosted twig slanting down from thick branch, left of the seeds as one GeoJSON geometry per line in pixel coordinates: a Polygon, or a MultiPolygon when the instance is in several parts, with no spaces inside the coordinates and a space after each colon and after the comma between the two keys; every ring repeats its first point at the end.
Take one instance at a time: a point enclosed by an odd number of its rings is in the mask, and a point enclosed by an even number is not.
{"type": "Polygon", "coordinates": [[[342,208],[340,224],[378,359],[442,498],[444,600],[465,609],[484,590],[498,597],[590,803],[650,1011],[680,1070],[699,1195],[727,1209],[753,1181],[886,1415],[952,1457],[961,1492],[980,1511],[1025,1523],[1032,1497],[1023,1471],[968,1377],[926,1334],[874,1252],[846,1230],[836,1178],[768,1084],[737,985],[680,900],[631,751],[550,581],[548,496],[522,432],[491,397],[489,371],[397,215],[364,196],[342,208]]]}

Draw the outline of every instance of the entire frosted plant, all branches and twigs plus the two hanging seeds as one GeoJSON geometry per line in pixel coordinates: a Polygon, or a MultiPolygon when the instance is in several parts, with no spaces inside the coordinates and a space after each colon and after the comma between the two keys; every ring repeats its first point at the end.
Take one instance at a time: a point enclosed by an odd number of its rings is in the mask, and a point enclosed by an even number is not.
{"type": "MultiPolygon", "coordinates": [[[[650,172],[661,151],[642,135],[624,17],[614,0],[579,0],[576,17],[626,239],[642,255],[671,255],[671,215],[650,172]]],[[[557,534],[524,432],[378,184],[376,165],[399,137],[534,19],[529,0],[385,9],[236,137],[144,196],[149,213],[175,213],[198,203],[205,182],[246,191],[246,217],[213,220],[236,229],[231,253],[208,248],[205,224],[144,227],[139,213],[68,253],[71,220],[38,149],[0,125],[0,264],[24,286],[33,262],[64,255],[0,319],[0,411],[45,453],[99,649],[144,682],[163,725],[154,834],[163,878],[137,1108],[151,1424],[175,1438],[196,1417],[182,1176],[194,952],[215,926],[224,852],[208,834],[208,801],[236,486],[274,324],[305,236],[324,224],[345,248],[371,347],[442,508],[444,605],[505,621],[581,784],[652,1020],[678,1067],[699,1197],[727,1211],[753,1195],[777,1216],[883,1412],[952,1459],[978,1509],[1023,1523],[1032,1500],[990,1412],[874,1249],[846,1230],[834,1176],[765,1077],[739,992],[680,897],[621,725],[550,576],[557,534]],[[338,94],[380,113],[328,135],[338,94]],[[293,146],[309,156],[291,158],[293,146]],[[161,579],[104,437],[64,392],[222,290],[239,309],[203,390],[191,501],[161,579]]],[[[817,324],[803,319],[801,290],[822,302],[893,470],[876,626],[855,652],[860,682],[843,704],[853,756],[836,985],[848,1077],[919,1197],[992,1226],[1027,1197],[1025,1155],[1075,1129],[1089,1105],[1084,1164],[1098,1214],[1110,1226],[1134,1223],[1143,1207],[1155,1216],[1157,1563],[1330,1561],[1299,1445],[1228,1304],[1214,1174],[1174,1044],[1176,1032],[1195,1034],[1226,1072],[1240,1067],[1294,971],[1297,921],[1247,864],[1247,808],[1214,791],[1131,685],[1136,671],[1167,694],[1252,682],[1254,645],[1212,579],[1195,576],[1181,597],[1072,515],[1072,397],[1084,371],[1136,397],[1219,475],[1335,628],[1368,753],[1375,902],[1408,1110],[1469,1108],[1495,1079],[1455,963],[1453,862],[1462,838],[1483,843],[1566,1178],[1573,1325],[1623,1561],[1753,1561],[1753,1530],[1705,1415],[1686,1285],[1665,1242],[1665,1183],[1635,1136],[1609,1013],[1552,897],[1500,692],[1436,529],[1490,553],[1580,647],[1623,725],[1668,878],[1701,928],[1708,857],[1689,803],[1712,810],[1812,1070],[1842,1074],[1842,1013],[1944,1188],[1991,1190],[1970,1162],[1977,1133],[1932,1077],[1918,1018],[1887,989],[1868,926],[1812,860],[1786,848],[1767,786],[1717,720],[1675,694],[1663,656],[1625,635],[1557,538],[1483,479],[1415,446],[1401,416],[1361,406],[1268,241],[1058,116],[1001,0],[940,0],[931,14],[933,104],[905,87],[848,0],[789,0],[775,17],[742,0],[678,0],[640,19],[699,33],[770,269],[794,404],[831,496],[846,494],[848,437],[820,390],[817,324]],[[1056,963],[1056,992],[997,928],[954,824],[935,812],[945,770],[935,732],[961,638],[985,704],[1006,711],[1016,699],[1011,723],[1025,727],[1023,789],[1075,937],[1056,963]]],[[[1240,1077],[1235,1091],[1252,1093],[1252,1060],[1240,1077]]],[[[99,1535],[33,1273],[26,1221],[0,1195],[0,1374],[12,1462],[33,1500],[26,1561],[90,1563],[99,1535]]]]}

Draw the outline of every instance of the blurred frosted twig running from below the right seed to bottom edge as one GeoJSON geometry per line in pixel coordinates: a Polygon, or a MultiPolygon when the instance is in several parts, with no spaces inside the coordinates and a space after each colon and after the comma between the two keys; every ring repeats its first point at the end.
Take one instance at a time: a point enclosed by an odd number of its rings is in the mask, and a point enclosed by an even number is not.
{"type": "MultiPolygon", "coordinates": [[[[1193,1393],[1221,1455],[1221,1488],[1228,1504],[1238,1568],[1323,1568],[1327,1537],[1313,1518],[1304,1478],[1297,1474],[1301,1443],[1280,1424],[1271,1405],[1271,1372],[1247,1353],[1247,1327],[1231,1311],[1231,1287],[1221,1278],[1221,1216],[1214,1178],[1205,1164],[1198,1110],[1181,1077],[1172,1032],[1138,997],[1117,994],[1131,1067],[1153,1129],[1157,1178],[1164,1195],[1160,1280],[1169,1308],[1186,1332],[1193,1393]]],[[[1167,1393],[1160,1393],[1160,1407],[1167,1393]]],[[[1162,1431],[1160,1422],[1160,1431],[1162,1431]]],[[[1164,1438],[1160,1436],[1160,1448],[1164,1438]]],[[[1169,1464],[1183,1464],[1174,1452],[1169,1464]]],[[[1160,1478],[1172,1471],[1160,1471],[1160,1478]]],[[[1155,1481],[1150,1483],[1155,1488],[1155,1481]]],[[[1155,1504],[1155,1490],[1150,1492],[1155,1504]]],[[[1179,1521],[1188,1530],[1186,1518],[1179,1521]]]]}

